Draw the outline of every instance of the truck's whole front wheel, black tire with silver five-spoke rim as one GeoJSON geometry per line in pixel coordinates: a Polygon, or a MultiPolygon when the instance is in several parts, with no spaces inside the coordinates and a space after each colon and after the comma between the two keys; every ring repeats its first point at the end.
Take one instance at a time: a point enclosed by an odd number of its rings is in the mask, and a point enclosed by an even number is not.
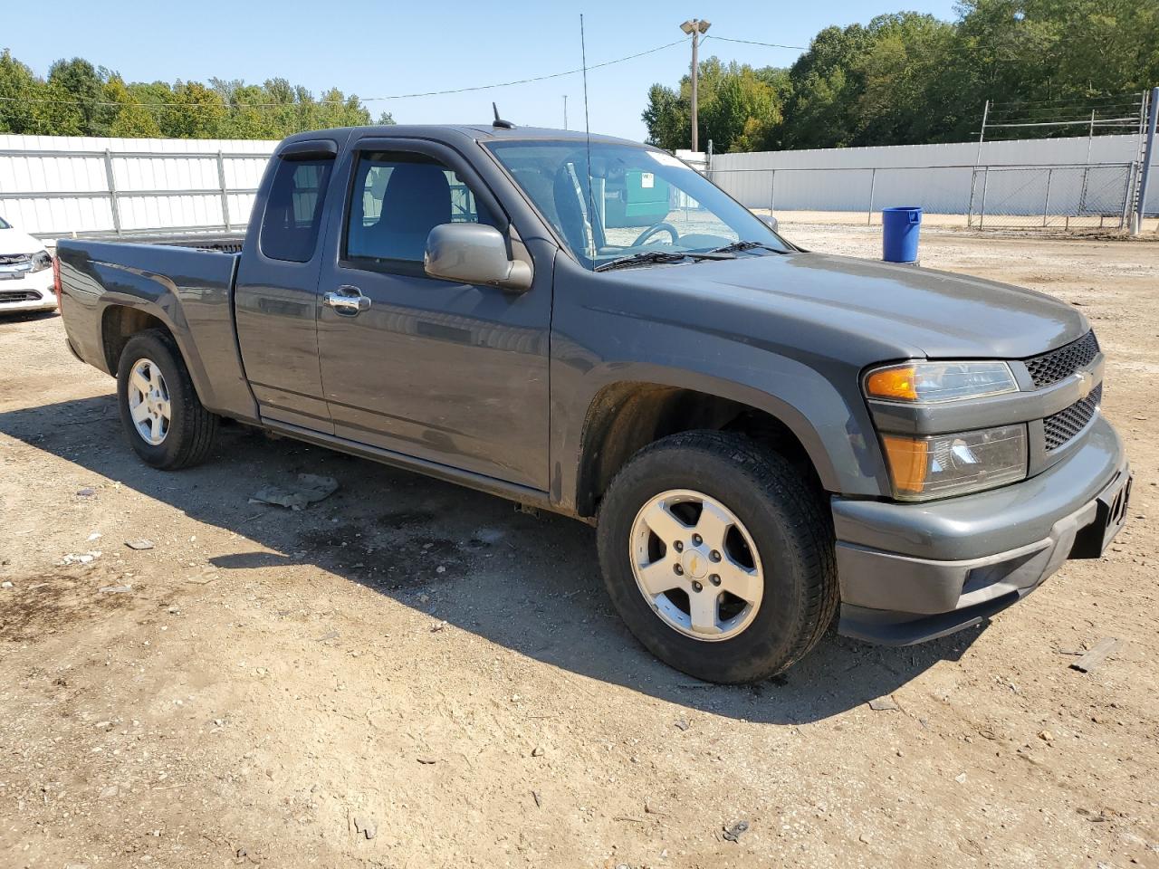
{"type": "MultiPolygon", "coordinates": [[[[712,516],[709,524],[710,520],[712,516]]],[[[684,532],[680,527],[673,533],[684,532]]],[[[833,527],[823,492],[810,485],[801,469],[787,459],[742,436],[687,432],[641,450],[604,496],[597,541],[607,593],[628,629],[665,664],[705,681],[752,682],[783,672],[812,649],[837,609],[833,527]],[[706,576],[704,562],[698,561],[710,536],[708,525],[704,541],[695,542],[700,541],[699,535],[691,536],[701,527],[700,519],[691,524],[681,520],[687,535],[679,553],[676,543],[669,546],[665,541],[663,556],[637,567],[640,561],[651,561],[661,539],[647,523],[641,530],[639,520],[646,510],[649,517],[654,516],[655,511],[649,509],[661,498],[666,517],[673,512],[687,516],[695,507],[695,499],[685,503],[679,499],[690,492],[706,496],[702,504],[715,505],[713,516],[719,518],[723,507],[723,513],[736,520],[732,526],[721,523],[729,528],[724,534],[729,547],[724,563],[707,568],[722,569],[721,575],[706,576]],[[673,511],[669,512],[668,506],[673,511]],[[641,542],[646,539],[649,542],[641,542]],[[753,546],[756,554],[749,552],[753,546]],[[649,554],[642,554],[644,548],[649,554]],[[646,582],[637,582],[637,576],[648,575],[646,568],[654,569],[657,564],[659,572],[650,576],[658,576],[661,584],[668,584],[672,580],[664,577],[671,565],[679,571],[678,579],[687,583],[686,590],[665,592],[663,598],[649,597],[646,582]],[[738,574],[737,564],[746,572],[738,574]],[[701,591],[695,591],[697,580],[690,582],[693,575],[705,577],[701,591]],[[741,576],[741,583],[749,583],[741,586],[745,590],[743,598],[722,594],[720,590],[714,592],[707,582],[712,579],[720,589],[722,577],[731,575],[741,576]],[[750,575],[752,578],[746,579],[750,575]],[[700,594],[710,596],[704,600],[715,601],[707,606],[722,626],[719,637],[699,634],[691,625],[692,601],[700,601],[700,594]],[[757,596],[758,605],[745,603],[757,596]],[[681,601],[687,601],[687,616],[681,601]],[[731,620],[723,620],[726,612],[737,611],[742,604],[744,609],[731,620]],[[683,623],[686,618],[690,625],[683,623]],[[678,620],[680,625],[676,625],[678,620]]],[[[715,549],[710,556],[722,561],[715,549]]],[[[656,583],[651,585],[655,587],[656,583]]],[[[731,586],[726,582],[724,587],[731,586]]],[[[705,609],[699,612],[704,615],[705,609]]]]}

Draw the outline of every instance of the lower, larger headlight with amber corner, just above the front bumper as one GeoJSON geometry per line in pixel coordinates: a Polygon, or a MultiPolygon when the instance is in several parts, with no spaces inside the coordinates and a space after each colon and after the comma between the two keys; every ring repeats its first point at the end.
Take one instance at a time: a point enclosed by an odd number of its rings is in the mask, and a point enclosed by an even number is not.
{"type": "Polygon", "coordinates": [[[911,438],[882,434],[894,495],[926,501],[964,495],[1026,477],[1026,426],[911,438]]]}

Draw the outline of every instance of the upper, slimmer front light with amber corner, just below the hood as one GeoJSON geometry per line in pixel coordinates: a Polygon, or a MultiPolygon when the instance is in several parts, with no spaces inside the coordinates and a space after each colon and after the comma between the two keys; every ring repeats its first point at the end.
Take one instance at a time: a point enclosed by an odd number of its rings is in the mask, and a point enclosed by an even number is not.
{"type": "Polygon", "coordinates": [[[887,401],[930,404],[1018,392],[1004,362],[913,362],[870,371],[866,395],[887,401]]]}

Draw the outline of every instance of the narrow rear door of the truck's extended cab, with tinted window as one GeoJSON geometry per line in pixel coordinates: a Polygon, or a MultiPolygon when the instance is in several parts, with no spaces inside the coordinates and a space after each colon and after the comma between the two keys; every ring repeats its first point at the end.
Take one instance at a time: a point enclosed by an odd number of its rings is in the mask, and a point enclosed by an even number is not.
{"type": "Polygon", "coordinates": [[[318,272],[333,140],[285,146],[254,203],[234,292],[238,344],[264,418],[334,433],[318,364],[318,272]]]}

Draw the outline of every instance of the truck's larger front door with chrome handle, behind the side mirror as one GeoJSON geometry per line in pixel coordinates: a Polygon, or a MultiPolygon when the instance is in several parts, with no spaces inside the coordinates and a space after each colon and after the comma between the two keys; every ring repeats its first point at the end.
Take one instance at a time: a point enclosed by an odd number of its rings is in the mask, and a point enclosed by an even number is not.
{"type": "MultiPolygon", "coordinates": [[[[363,140],[335,183],[319,280],[319,353],[335,434],[547,489],[551,270],[531,290],[428,277],[439,224],[508,216],[469,163],[436,143],[363,140]],[[335,307],[327,293],[338,294],[335,307]]],[[[334,301],[334,297],[330,298],[334,301]]]]}

